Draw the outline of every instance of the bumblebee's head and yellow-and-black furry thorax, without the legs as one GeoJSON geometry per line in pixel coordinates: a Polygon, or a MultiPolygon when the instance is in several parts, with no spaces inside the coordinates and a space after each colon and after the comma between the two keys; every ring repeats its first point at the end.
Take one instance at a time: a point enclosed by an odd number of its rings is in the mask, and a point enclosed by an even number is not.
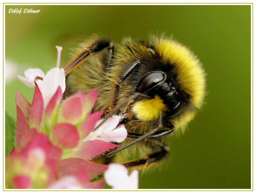
{"type": "Polygon", "coordinates": [[[138,97],[131,104],[138,120],[156,120],[159,113],[175,126],[186,128],[196,111],[204,104],[205,73],[199,59],[187,47],[175,40],[153,36],[150,41],[126,41],[116,53],[111,72],[112,82],[129,69],[134,61],[140,63],[127,77],[120,94],[120,102],[134,92],[152,99],[138,97]]]}

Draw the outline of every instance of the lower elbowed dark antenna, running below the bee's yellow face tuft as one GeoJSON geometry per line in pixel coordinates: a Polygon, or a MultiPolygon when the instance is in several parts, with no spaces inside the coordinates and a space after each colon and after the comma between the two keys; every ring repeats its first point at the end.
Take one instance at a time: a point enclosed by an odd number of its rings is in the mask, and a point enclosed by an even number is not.
{"type": "Polygon", "coordinates": [[[118,152],[122,151],[123,149],[125,149],[125,148],[127,148],[127,147],[130,147],[130,146],[132,146],[133,144],[135,144],[135,143],[137,143],[137,142],[139,142],[139,141],[145,140],[145,139],[147,139],[149,136],[151,136],[152,134],[156,133],[156,131],[157,131],[158,129],[160,129],[160,128],[163,127],[162,117],[163,117],[163,113],[162,113],[162,111],[161,111],[160,114],[159,114],[159,119],[158,119],[158,120],[159,120],[159,123],[158,123],[158,127],[157,127],[157,128],[151,130],[150,132],[146,133],[145,135],[140,136],[140,137],[137,138],[136,140],[133,140],[133,141],[131,141],[131,142],[125,144],[124,146],[122,146],[122,147],[120,147],[120,148],[118,148],[118,149],[115,149],[114,151],[108,153],[108,154],[106,155],[106,157],[109,158],[109,157],[111,157],[111,156],[117,154],[118,152]]]}

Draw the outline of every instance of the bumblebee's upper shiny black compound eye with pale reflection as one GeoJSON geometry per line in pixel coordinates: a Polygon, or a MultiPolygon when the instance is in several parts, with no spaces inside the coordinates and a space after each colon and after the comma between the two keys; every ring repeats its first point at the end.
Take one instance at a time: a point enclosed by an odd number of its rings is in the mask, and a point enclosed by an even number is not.
{"type": "Polygon", "coordinates": [[[145,75],[139,82],[136,91],[144,93],[145,91],[153,88],[157,83],[163,81],[165,74],[161,71],[154,71],[145,75]]]}

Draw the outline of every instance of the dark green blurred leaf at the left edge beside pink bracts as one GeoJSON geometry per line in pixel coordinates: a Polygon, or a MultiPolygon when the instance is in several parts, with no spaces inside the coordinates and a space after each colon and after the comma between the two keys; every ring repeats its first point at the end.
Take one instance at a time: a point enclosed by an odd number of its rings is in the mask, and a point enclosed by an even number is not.
{"type": "Polygon", "coordinates": [[[14,148],[16,123],[13,115],[5,110],[5,156],[14,148]]]}

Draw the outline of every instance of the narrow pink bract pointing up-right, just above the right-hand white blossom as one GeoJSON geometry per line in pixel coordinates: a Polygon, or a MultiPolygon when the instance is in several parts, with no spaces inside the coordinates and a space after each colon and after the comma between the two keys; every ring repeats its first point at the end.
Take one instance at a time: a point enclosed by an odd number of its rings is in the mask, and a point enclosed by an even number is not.
{"type": "Polygon", "coordinates": [[[86,137],[92,132],[96,122],[100,119],[103,112],[104,111],[96,111],[86,117],[85,121],[80,126],[81,138],[86,137]]]}

